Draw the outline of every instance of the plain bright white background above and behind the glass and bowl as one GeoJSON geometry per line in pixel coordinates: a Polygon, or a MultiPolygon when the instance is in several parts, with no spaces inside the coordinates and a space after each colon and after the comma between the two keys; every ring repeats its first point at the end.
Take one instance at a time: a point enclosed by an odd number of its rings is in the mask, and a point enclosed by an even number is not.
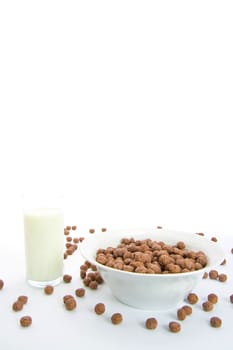
{"type": "Polygon", "coordinates": [[[232,234],[232,18],[231,1],[0,1],[2,254],[35,189],[65,195],[67,224],[232,234]]]}

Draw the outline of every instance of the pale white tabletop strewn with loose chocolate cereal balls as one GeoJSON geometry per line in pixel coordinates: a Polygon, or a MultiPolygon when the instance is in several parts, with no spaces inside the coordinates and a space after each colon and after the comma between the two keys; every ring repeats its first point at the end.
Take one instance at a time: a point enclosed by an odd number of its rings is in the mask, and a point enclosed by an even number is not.
{"type": "MultiPolygon", "coordinates": [[[[70,223],[68,223],[70,224],[70,223]]],[[[75,224],[75,223],[71,223],[75,224]]],[[[88,235],[88,230],[80,228],[73,231],[76,237],[88,235]]],[[[65,294],[74,294],[78,287],[83,287],[79,277],[79,266],[83,263],[79,251],[65,260],[64,273],[72,275],[72,282],[61,283],[55,287],[52,295],[45,295],[42,289],[27,285],[24,275],[23,235],[18,232],[8,236],[0,247],[0,278],[5,282],[0,291],[0,344],[1,349],[142,349],[157,347],[166,349],[232,349],[233,304],[229,296],[233,293],[233,237],[230,233],[217,235],[218,241],[226,252],[227,263],[217,267],[226,273],[228,280],[221,283],[214,280],[202,280],[195,289],[199,302],[193,305],[193,314],[180,321],[182,329],[173,334],[168,331],[168,323],[177,320],[176,309],[169,312],[137,310],[114,299],[106,284],[98,290],[86,288],[83,298],[76,298],[77,308],[67,311],[63,305],[65,294]],[[17,238],[18,237],[18,238],[17,238]],[[204,312],[201,304],[209,293],[216,293],[219,302],[211,312],[204,312]],[[12,311],[12,303],[19,295],[27,295],[28,303],[19,312],[12,311]],[[106,305],[106,312],[97,316],[93,308],[97,302],[106,305]],[[110,317],[114,312],[121,312],[123,322],[112,325],[110,317]],[[23,315],[32,317],[32,325],[22,328],[19,319],[23,315]],[[210,327],[211,316],[219,316],[222,327],[210,327]],[[156,317],[156,330],[147,330],[144,322],[148,317],[156,317]]],[[[185,301],[184,301],[185,304],[185,301]]]]}

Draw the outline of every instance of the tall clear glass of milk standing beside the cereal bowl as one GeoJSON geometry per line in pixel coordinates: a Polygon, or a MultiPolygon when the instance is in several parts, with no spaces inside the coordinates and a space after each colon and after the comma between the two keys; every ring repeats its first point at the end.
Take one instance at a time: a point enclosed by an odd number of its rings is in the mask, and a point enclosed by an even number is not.
{"type": "Polygon", "coordinates": [[[26,278],[30,285],[55,286],[63,276],[62,196],[24,196],[26,278]]]}

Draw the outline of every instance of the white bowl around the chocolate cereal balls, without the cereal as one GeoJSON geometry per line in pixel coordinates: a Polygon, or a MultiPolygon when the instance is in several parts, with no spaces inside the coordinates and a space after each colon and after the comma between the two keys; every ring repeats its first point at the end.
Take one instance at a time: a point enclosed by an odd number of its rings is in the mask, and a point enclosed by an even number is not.
{"type": "Polygon", "coordinates": [[[205,270],[219,265],[224,253],[219,243],[195,233],[165,229],[130,229],[95,233],[80,245],[82,256],[95,264],[112,294],[121,302],[144,310],[168,310],[175,308],[202,279],[205,270]],[[202,250],[208,259],[201,270],[174,274],[142,274],[113,269],[96,262],[99,248],[116,247],[122,238],[163,241],[176,244],[183,241],[188,249],[202,250]]]}

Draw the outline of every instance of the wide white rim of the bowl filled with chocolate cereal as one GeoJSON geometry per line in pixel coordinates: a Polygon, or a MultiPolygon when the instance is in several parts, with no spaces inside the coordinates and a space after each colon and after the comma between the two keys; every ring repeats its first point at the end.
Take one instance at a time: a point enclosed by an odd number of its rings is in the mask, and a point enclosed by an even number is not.
{"type": "MultiPolygon", "coordinates": [[[[148,234],[149,235],[149,234],[148,234]]],[[[195,237],[195,236],[194,236],[195,237]]],[[[148,237],[149,238],[149,237],[148,237]]],[[[145,238],[146,239],[146,238],[145,238]]],[[[120,243],[120,242],[119,242],[120,243]]],[[[205,236],[201,236],[201,235],[198,235],[196,232],[186,232],[186,231],[179,231],[179,230],[171,230],[171,229],[156,229],[156,228],[135,228],[135,229],[116,229],[116,230],[109,230],[107,233],[106,232],[96,232],[94,233],[93,235],[90,235],[90,236],[87,236],[85,237],[84,241],[82,242],[82,244],[80,245],[80,253],[81,255],[83,256],[84,259],[86,259],[87,261],[89,261],[91,264],[94,264],[96,265],[100,270],[103,270],[103,271],[106,271],[106,272],[111,272],[111,273],[114,273],[114,274],[120,274],[120,275],[125,275],[125,276],[130,276],[132,278],[136,278],[136,277],[144,277],[144,278],[152,278],[152,279],[155,279],[155,278],[177,278],[178,276],[179,277],[185,277],[185,276],[193,276],[193,275],[199,275],[201,273],[204,273],[206,270],[209,270],[209,269],[212,269],[213,267],[215,266],[218,266],[222,261],[223,259],[225,258],[225,252],[224,250],[222,249],[221,245],[219,242],[213,242],[211,241],[210,239],[207,239],[207,237],[205,236]],[[140,231],[139,231],[140,230],[140,231]],[[142,232],[141,232],[142,230],[142,232]],[[110,266],[106,266],[106,265],[103,265],[103,264],[100,264],[98,261],[96,261],[94,258],[92,257],[88,257],[87,254],[85,254],[85,245],[88,243],[88,240],[93,240],[94,237],[98,237],[98,236],[103,236],[103,235],[109,235],[111,233],[127,233],[127,231],[131,232],[131,231],[135,231],[135,237],[133,238],[136,238],[137,235],[140,235],[140,234],[144,234],[144,231],[146,233],[146,231],[150,231],[150,230],[153,230],[154,232],[158,231],[159,233],[162,232],[162,230],[164,230],[165,232],[172,232],[172,233],[181,233],[181,234],[185,234],[185,235],[196,235],[196,238],[197,240],[200,239],[201,240],[204,240],[206,241],[209,245],[212,245],[213,247],[217,247],[219,249],[219,252],[220,252],[220,255],[222,255],[221,259],[219,258],[219,261],[215,264],[209,264],[207,262],[207,265],[199,270],[195,270],[195,271],[189,271],[189,272],[178,272],[178,273],[165,273],[165,274],[162,274],[162,273],[154,273],[154,274],[147,274],[147,273],[140,273],[140,272],[130,272],[130,271],[125,271],[125,270],[120,270],[120,269],[115,269],[113,267],[110,267],[110,266]],[[84,248],[84,249],[83,249],[84,248]]],[[[208,258],[208,256],[207,256],[208,258]]]]}

